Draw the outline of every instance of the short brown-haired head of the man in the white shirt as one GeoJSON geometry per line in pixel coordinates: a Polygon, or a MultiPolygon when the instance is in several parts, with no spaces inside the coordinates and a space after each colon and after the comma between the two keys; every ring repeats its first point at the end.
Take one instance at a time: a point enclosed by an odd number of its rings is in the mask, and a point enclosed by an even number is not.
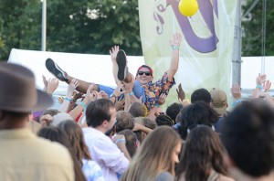
{"type": "Polygon", "coordinates": [[[98,127],[102,122],[111,120],[111,109],[115,109],[110,100],[100,99],[90,102],[86,109],[86,122],[91,127],[98,127]]]}

